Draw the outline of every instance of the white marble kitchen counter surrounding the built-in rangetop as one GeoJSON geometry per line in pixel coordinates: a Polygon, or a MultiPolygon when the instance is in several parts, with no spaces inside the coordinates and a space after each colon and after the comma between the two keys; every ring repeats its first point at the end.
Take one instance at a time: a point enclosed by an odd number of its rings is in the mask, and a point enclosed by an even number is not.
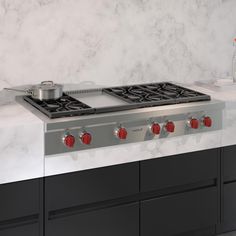
{"type": "Polygon", "coordinates": [[[46,157],[43,154],[43,122],[11,99],[6,102],[1,99],[0,183],[236,144],[236,85],[222,90],[196,85],[187,87],[225,101],[223,130],[46,157]]]}

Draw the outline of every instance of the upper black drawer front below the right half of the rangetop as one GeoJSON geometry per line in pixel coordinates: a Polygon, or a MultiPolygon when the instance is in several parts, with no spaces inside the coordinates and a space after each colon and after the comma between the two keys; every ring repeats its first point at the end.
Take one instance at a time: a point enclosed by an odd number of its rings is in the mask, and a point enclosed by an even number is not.
{"type": "Polygon", "coordinates": [[[218,149],[141,162],[141,191],[151,191],[214,179],[218,149]]]}

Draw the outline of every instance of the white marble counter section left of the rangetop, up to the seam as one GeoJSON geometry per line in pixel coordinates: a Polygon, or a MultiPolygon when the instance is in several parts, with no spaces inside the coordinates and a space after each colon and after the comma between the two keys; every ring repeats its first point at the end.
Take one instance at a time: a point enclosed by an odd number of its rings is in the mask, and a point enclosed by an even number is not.
{"type": "Polygon", "coordinates": [[[0,184],[42,177],[42,121],[14,102],[0,113],[0,184]]]}

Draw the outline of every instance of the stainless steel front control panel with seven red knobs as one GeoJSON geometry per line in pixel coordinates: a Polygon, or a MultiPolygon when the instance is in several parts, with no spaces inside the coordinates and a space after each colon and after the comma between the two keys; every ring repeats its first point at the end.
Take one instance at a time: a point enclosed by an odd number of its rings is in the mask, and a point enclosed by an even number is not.
{"type": "Polygon", "coordinates": [[[45,126],[45,155],[219,130],[223,108],[209,101],[54,120],[45,126]]]}

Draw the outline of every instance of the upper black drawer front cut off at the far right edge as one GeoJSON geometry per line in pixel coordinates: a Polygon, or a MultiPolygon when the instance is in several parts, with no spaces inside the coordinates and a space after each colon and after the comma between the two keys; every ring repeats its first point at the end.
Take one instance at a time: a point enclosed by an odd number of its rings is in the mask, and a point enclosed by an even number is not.
{"type": "Polygon", "coordinates": [[[224,182],[236,180],[236,145],[223,148],[224,182]]]}

